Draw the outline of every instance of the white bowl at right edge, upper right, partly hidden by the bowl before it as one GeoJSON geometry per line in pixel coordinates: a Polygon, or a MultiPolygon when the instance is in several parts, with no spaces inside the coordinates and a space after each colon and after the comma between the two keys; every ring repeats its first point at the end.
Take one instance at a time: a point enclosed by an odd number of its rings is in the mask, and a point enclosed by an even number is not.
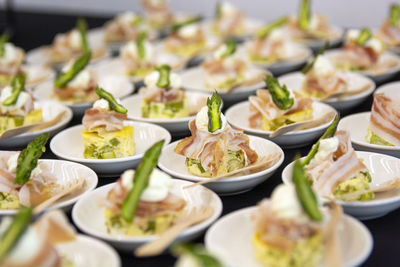
{"type": "MultiPolygon", "coordinates": [[[[332,49],[332,50],[327,51],[324,55],[327,56],[329,59],[331,59],[333,62],[335,62],[334,58],[341,52],[342,52],[341,49],[332,49]]],[[[374,73],[374,72],[371,72],[368,70],[356,71],[356,72],[363,74],[363,75],[367,75],[372,80],[374,80],[375,83],[381,84],[381,83],[393,78],[400,71],[400,56],[398,56],[392,52],[384,52],[379,57],[377,64],[381,64],[381,62],[384,62],[387,60],[396,61],[396,65],[394,67],[388,69],[385,73],[374,73]]]]}

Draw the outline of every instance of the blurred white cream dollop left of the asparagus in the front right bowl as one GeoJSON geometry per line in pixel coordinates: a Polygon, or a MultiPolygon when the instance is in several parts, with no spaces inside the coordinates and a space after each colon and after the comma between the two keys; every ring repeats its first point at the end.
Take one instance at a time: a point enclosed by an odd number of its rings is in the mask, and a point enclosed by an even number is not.
{"type": "Polygon", "coordinates": [[[271,209],[281,219],[294,220],[299,223],[309,221],[293,184],[281,184],[275,188],[271,195],[271,209]]]}

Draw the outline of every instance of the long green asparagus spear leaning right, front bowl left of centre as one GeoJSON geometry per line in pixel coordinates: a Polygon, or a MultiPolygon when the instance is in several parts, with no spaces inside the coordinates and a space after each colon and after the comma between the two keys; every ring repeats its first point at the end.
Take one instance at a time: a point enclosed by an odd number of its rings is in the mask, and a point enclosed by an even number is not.
{"type": "Polygon", "coordinates": [[[149,184],[150,174],[157,166],[164,140],[155,143],[144,153],[143,160],[136,169],[133,179],[133,187],[122,203],[121,215],[127,222],[132,222],[140,196],[149,184]]]}

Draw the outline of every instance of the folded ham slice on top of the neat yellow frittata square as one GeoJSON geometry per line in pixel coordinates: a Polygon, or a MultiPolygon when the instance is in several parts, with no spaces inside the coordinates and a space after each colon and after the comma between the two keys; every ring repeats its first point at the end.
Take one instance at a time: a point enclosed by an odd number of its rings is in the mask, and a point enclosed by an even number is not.
{"type": "Polygon", "coordinates": [[[87,131],[92,131],[96,128],[104,128],[108,132],[119,131],[124,128],[123,123],[127,117],[127,114],[91,108],[85,111],[82,124],[87,131]]]}

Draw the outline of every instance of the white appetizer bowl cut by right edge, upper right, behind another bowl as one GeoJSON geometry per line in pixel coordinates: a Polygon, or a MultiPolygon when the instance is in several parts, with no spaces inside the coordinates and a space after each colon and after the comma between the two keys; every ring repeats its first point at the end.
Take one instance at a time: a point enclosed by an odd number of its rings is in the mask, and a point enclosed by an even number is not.
{"type": "MultiPolygon", "coordinates": [[[[327,58],[329,58],[333,63],[335,63],[335,58],[343,53],[340,49],[332,49],[325,53],[327,58]]],[[[375,83],[381,84],[391,78],[393,78],[400,71],[400,56],[392,52],[384,52],[380,57],[377,64],[377,68],[374,70],[363,70],[356,71],[360,74],[366,75],[374,80],[375,83]],[[383,66],[388,64],[388,62],[393,62],[393,66],[387,70],[383,70],[383,66]]]]}

